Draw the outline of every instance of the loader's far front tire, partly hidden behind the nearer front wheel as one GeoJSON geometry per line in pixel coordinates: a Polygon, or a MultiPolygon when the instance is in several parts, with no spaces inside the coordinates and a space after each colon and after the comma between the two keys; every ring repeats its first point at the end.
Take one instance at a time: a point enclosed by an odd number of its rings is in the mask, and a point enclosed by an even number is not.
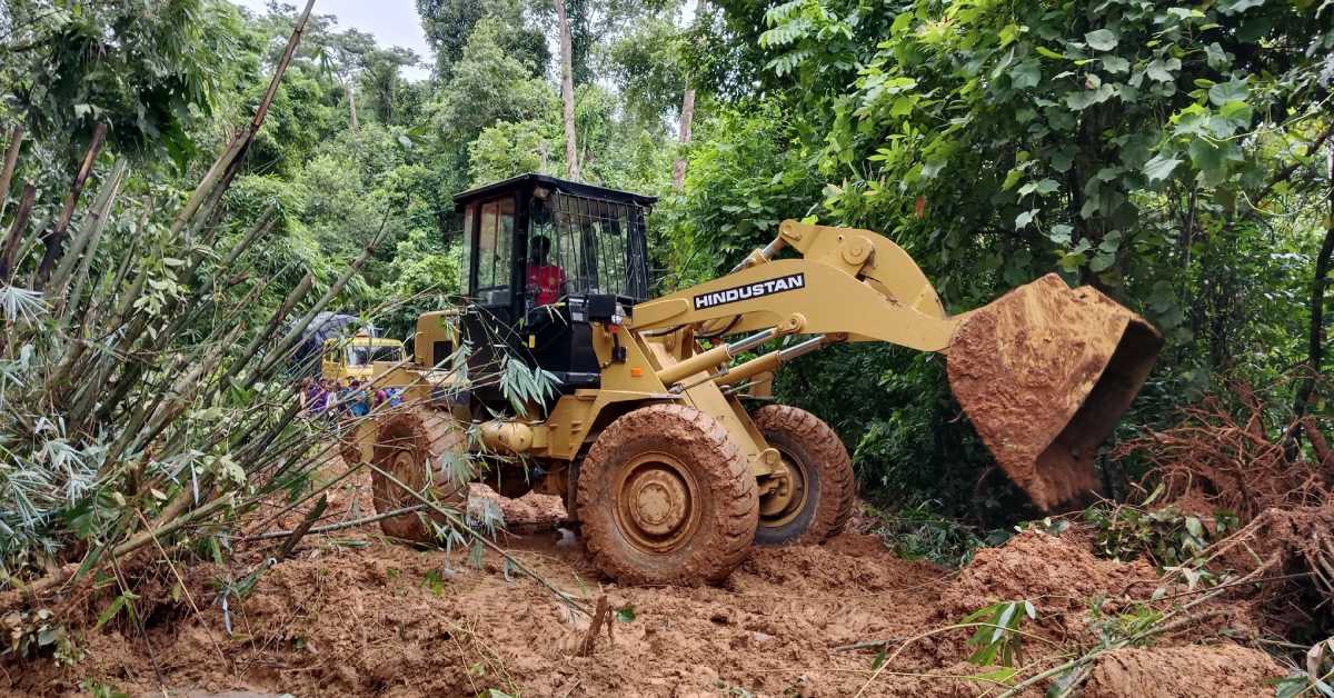
{"type": "Polygon", "coordinates": [[[755,543],[820,543],[838,535],[852,515],[856,480],[842,439],[806,410],[767,404],[751,415],[770,446],[783,455],[792,491],[760,498],[755,543]]]}

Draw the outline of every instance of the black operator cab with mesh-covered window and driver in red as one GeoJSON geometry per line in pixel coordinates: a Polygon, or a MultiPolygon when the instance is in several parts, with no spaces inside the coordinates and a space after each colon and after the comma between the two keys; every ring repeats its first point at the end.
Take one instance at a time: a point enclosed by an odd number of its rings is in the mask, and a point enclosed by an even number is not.
{"type": "Polygon", "coordinates": [[[562,392],[600,384],[590,322],[648,298],[644,216],[658,199],[546,175],[454,198],[467,246],[470,372],[508,347],[556,376],[562,392]]]}

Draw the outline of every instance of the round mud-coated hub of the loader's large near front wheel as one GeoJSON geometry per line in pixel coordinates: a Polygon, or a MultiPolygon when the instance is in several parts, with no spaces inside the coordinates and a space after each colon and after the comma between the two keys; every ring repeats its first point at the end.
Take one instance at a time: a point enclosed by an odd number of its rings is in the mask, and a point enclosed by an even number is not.
{"type": "Polygon", "coordinates": [[[636,459],[619,484],[618,518],[627,538],[640,549],[671,551],[698,522],[694,480],[671,456],[651,454],[636,459]]]}

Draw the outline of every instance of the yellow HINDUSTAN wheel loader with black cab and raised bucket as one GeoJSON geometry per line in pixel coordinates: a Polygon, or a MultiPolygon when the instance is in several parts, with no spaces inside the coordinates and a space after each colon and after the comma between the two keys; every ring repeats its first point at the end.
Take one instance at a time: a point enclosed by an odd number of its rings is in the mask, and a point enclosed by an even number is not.
{"type": "MultiPolygon", "coordinates": [[[[852,342],[944,354],[959,404],[1039,507],[1097,488],[1095,451],[1161,346],[1138,315],[1049,275],[951,316],[891,240],[795,220],[730,274],[648,298],[654,202],[543,175],[455,198],[470,303],[419,318],[415,363],[376,364],[407,399],[352,434],[379,511],[458,502],[458,464],[480,462],[507,496],[563,496],[623,583],[720,581],[754,543],[818,543],[847,522],[838,435],[747,398],[783,363],[852,342]],[[516,400],[516,366],[554,390],[516,400]]],[[[416,512],[383,529],[432,535],[416,512]]]]}

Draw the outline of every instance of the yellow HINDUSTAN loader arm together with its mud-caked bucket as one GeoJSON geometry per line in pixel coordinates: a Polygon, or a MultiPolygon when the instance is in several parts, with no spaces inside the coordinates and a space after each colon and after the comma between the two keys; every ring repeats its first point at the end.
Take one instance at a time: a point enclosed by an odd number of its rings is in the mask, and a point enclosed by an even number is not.
{"type": "Polygon", "coordinates": [[[899,246],[866,230],[786,220],[778,238],[712,282],[642,303],[630,331],[672,391],[734,386],[838,342],[947,356],[950,387],[1000,467],[1042,508],[1098,488],[1094,458],[1149,376],[1162,336],[1091,287],[1057,275],[950,316],[899,246]],[[774,259],[791,247],[800,256],[774,259]],[[708,350],[698,338],[748,335],[708,350]],[[783,335],[815,335],[731,366],[783,335]]]}

